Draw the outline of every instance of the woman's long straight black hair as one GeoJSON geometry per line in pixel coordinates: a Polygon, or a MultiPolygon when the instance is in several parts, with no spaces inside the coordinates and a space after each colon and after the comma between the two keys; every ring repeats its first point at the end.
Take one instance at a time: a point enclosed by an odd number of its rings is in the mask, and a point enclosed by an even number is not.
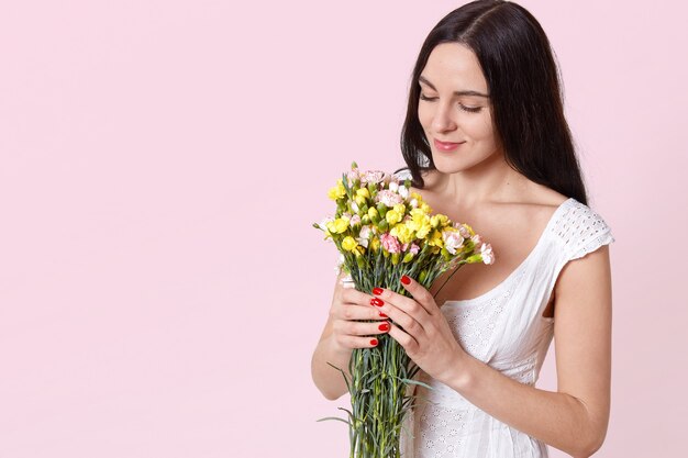
{"type": "Polygon", "coordinates": [[[550,41],[528,10],[501,0],[478,0],[452,11],[421,47],[401,132],[401,152],[413,186],[422,189],[421,172],[435,169],[418,119],[419,77],[441,43],[460,43],[476,54],[507,164],[532,181],[587,204],[550,41]]]}

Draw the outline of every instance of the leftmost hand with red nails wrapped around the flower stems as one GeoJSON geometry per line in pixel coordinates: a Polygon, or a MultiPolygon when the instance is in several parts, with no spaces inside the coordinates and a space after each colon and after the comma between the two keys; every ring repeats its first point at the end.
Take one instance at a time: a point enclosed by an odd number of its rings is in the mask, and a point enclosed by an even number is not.
{"type": "Polygon", "coordinates": [[[373,348],[377,346],[377,335],[389,331],[387,316],[373,305],[373,295],[352,287],[336,288],[330,308],[332,339],[339,351],[353,348],[373,348]],[[374,323],[358,320],[375,320],[374,323]]]}

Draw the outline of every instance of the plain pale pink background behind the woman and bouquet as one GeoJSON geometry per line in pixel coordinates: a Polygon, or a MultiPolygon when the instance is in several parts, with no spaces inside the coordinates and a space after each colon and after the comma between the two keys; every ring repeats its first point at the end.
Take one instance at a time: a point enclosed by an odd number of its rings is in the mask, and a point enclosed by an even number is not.
{"type": "MultiPolygon", "coordinates": [[[[348,401],[310,379],[336,259],[310,225],[352,159],[402,165],[413,62],[458,4],[2,2],[0,457],[347,456],[315,423],[348,401]]],[[[685,7],[522,4],[617,237],[596,456],[683,455],[685,7]]]]}

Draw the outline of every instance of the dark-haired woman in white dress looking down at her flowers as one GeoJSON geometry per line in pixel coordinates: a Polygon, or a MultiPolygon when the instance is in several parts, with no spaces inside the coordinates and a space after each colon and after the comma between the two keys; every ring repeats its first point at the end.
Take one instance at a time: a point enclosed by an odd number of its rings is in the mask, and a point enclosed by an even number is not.
{"type": "Polygon", "coordinates": [[[588,457],[610,407],[609,226],[587,206],[550,43],[522,7],[476,1],[423,44],[402,132],[414,190],[497,254],[406,298],[335,283],[312,359],[328,399],[353,348],[388,333],[422,369],[406,456],[588,457]],[[376,322],[368,322],[376,320],[376,322]],[[401,331],[395,323],[399,323],[401,331]],[[556,342],[557,391],[534,387],[556,342]]]}

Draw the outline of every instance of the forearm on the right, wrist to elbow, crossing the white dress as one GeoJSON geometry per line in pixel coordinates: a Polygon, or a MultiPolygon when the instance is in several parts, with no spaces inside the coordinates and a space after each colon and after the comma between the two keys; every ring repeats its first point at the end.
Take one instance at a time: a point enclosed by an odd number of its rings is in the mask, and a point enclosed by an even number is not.
{"type": "Polygon", "coordinates": [[[599,428],[575,396],[520,383],[466,354],[455,367],[443,382],[500,422],[575,458],[601,446],[599,428]]]}

